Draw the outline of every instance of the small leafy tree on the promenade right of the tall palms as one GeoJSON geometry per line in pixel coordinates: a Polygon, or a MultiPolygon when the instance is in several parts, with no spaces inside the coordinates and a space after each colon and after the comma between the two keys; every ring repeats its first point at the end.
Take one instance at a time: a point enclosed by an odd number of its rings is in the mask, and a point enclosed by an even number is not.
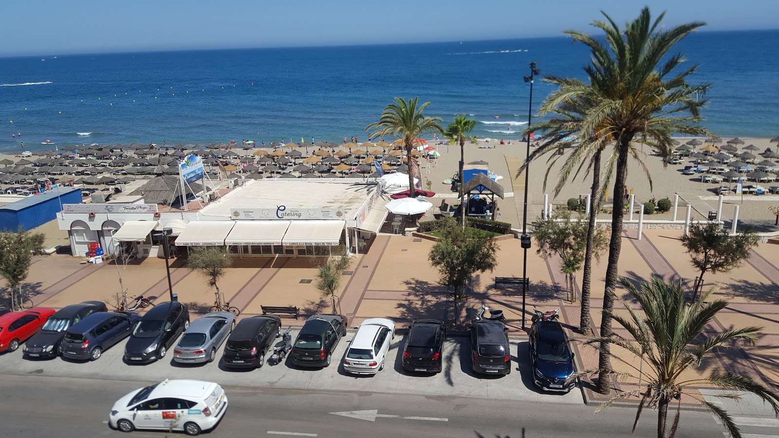
{"type": "Polygon", "coordinates": [[[746,229],[735,235],[730,235],[720,224],[691,224],[687,235],[682,236],[682,245],[687,249],[690,263],[700,275],[693,288],[693,299],[703,287],[703,274],[711,271],[728,272],[740,267],[749,258],[749,249],[760,242],[760,237],[753,230],[746,229]]]}

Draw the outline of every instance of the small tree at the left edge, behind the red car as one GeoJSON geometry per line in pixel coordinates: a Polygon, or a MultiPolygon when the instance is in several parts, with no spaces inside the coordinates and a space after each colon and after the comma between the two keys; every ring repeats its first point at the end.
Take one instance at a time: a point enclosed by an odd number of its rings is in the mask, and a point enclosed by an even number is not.
{"type": "Polygon", "coordinates": [[[11,306],[16,309],[15,289],[19,289],[19,298],[22,295],[22,281],[30,273],[30,262],[33,256],[43,252],[43,233],[23,231],[19,228],[16,232],[0,232],[0,275],[8,283],[11,306]]]}

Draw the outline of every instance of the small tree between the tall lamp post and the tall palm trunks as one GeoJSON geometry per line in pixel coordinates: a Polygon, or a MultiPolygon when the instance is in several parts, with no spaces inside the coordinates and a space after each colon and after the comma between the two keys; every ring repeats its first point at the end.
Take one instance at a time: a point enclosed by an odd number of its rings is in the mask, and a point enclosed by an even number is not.
{"type": "MultiPolygon", "coordinates": [[[[572,198],[573,199],[573,198],[572,198]]],[[[584,264],[587,250],[587,235],[590,222],[577,216],[571,219],[568,210],[554,210],[552,217],[541,219],[535,226],[533,237],[538,243],[536,253],[545,257],[559,256],[562,260],[562,273],[566,274],[566,293],[573,297],[573,278],[584,264]]],[[[608,231],[595,228],[592,240],[592,255],[597,262],[601,253],[608,248],[608,231]]],[[[573,300],[572,300],[573,301],[573,300]]]]}

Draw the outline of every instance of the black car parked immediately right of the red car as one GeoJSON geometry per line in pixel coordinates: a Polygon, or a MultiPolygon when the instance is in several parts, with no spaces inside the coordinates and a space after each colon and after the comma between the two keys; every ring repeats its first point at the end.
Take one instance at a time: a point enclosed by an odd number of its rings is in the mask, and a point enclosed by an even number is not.
{"type": "Polygon", "coordinates": [[[51,315],[41,330],[33,334],[26,341],[22,352],[31,358],[51,358],[60,354],[59,346],[65,330],[73,324],[96,312],[106,312],[105,303],[102,301],[85,301],[80,304],[71,304],[59,309],[51,315]]]}

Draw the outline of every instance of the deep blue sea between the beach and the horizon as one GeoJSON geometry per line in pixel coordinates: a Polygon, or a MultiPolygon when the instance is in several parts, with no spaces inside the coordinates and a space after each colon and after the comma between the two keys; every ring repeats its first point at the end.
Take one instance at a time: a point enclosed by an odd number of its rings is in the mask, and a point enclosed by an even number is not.
{"type": "MultiPolygon", "coordinates": [[[[779,136],[779,30],[700,32],[677,49],[686,65],[700,65],[690,82],[711,85],[703,109],[711,132],[779,136]]],[[[539,79],[583,79],[589,60],[583,44],[564,36],[0,58],[0,152],[231,139],[362,143],[386,104],[415,96],[444,126],[464,114],[478,121],[472,134],[480,139],[516,139],[554,90],[535,80],[530,107],[529,63],[539,79]]]]}

